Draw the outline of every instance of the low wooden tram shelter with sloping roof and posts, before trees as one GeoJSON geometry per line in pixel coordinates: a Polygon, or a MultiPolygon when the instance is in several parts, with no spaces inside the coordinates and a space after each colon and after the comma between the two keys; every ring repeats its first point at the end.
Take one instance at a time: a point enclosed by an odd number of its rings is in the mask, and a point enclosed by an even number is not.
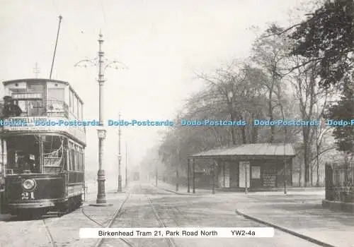
{"type": "Polygon", "coordinates": [[[212,159],[212,193],[224,189],[271,190],[292,186],[291,144],[257,143],[199,152],[188,157],[188,193],[195,193],[195,159],[212,159]],[[285,172],[286,169],[286,172],[285,172]],[[191,180],[191,181],[190,181],[191,180]]]}

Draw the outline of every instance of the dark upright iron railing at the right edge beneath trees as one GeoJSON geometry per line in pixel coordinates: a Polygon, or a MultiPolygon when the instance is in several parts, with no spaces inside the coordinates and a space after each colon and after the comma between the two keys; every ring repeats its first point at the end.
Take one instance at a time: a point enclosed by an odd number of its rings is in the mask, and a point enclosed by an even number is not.
{"type": "Polygon", "coordinates": [[[354,163],[326,163],[326,200],[354,203],[354,163]]]}

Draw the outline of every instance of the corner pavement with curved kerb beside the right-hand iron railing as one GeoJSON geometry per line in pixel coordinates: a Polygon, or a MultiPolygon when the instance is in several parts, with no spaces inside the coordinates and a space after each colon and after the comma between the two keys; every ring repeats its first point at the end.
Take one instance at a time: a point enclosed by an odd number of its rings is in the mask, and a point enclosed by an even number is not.
{"type": "Polygon", "coordinates": [[[354,215],[326,210],[322,208],[321,200],[247,205],[236,213],[327,244],[322,246],[354,246],[354,215]]]}

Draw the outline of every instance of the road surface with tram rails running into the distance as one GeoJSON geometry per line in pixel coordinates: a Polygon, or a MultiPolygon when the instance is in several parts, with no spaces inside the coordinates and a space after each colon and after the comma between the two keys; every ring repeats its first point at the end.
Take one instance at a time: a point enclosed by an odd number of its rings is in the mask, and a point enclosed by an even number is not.
{"type": "MultiPolygon", "coordinates": [[[[266,227],[236,215],[238,205],[262,203],[242,193],[176,195],[150,183],[134,183],[129,193],[108,195],[113,207],[84,205],[57,217],[25,221],[2,215],[0,246],[95,246],[98,239],[79,239],[81,227],[266,227]],[[122,203],[124,204],[122,205],[122,203]],[[121,207],[117,217],[115,213],[121,207]]],[[[99,246],[317,246],[282,231],[273,238],[233,239],[103,239],[99,246]]]]}

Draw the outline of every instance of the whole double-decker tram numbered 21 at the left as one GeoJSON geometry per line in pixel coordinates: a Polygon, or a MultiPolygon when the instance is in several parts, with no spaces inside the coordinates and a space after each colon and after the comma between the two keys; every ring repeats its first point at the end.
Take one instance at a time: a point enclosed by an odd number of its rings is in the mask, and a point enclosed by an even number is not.
{"type": "Polygon", "coordinates": [[[86,130],[67,123],[82,120],[82,100],[62,80],[8,80],[3,84],[1,212],[64,214],[80,207],[86,130]]]}

